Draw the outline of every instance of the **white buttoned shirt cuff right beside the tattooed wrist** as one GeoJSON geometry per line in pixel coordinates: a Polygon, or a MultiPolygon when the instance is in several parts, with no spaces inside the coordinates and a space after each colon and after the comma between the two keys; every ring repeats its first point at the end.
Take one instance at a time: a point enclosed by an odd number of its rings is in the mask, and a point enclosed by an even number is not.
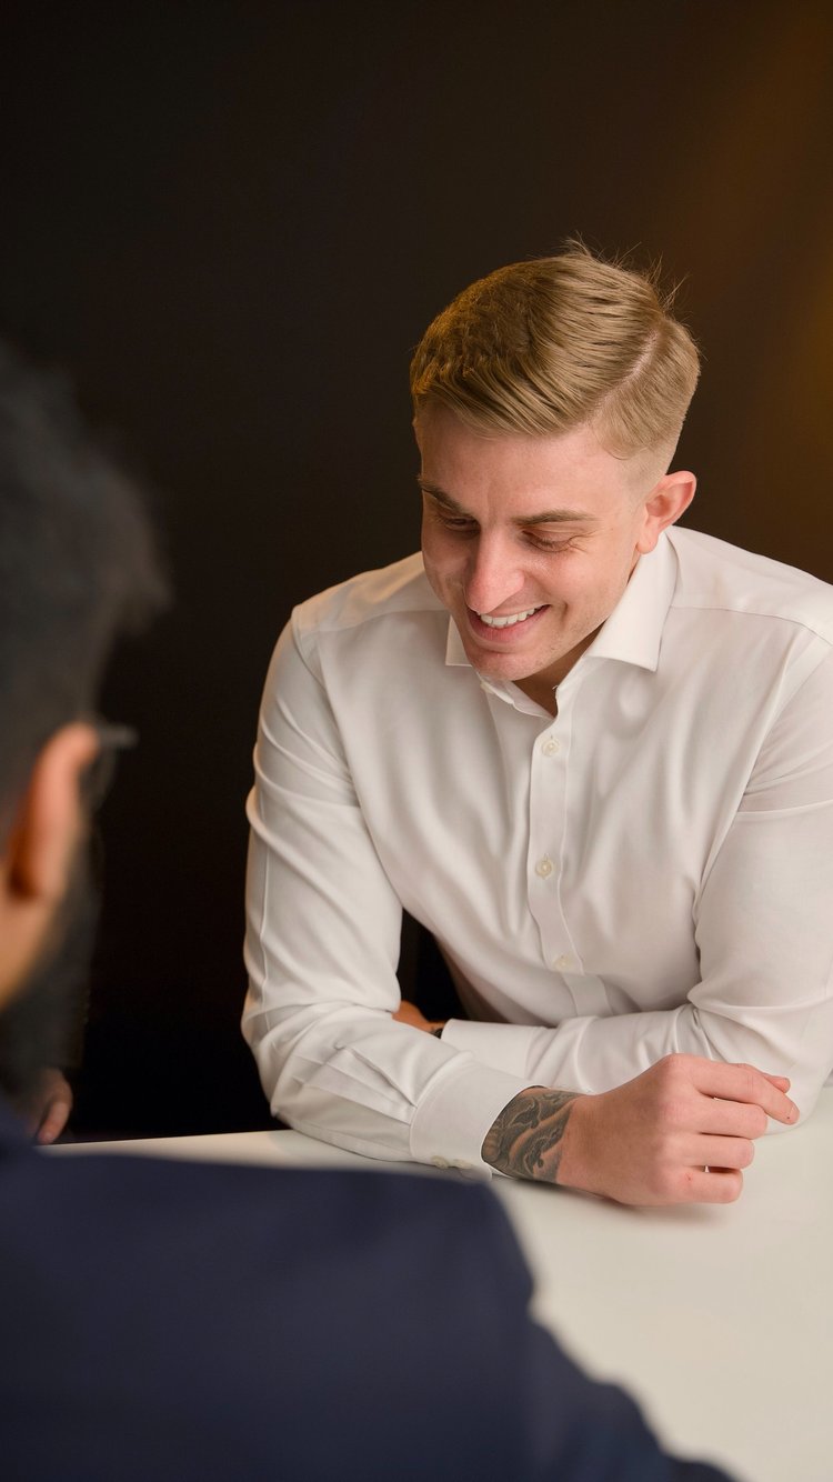
{"type": "MultiPolygon", "coordinates": [[[[443,1043],[445,1043],[443,1033],[443,1043]]],[[[476,1178],[491,1178],[480,1157],[483,1138],[500,1112],[529,1085],[467,1055],[458,1067],[437,1076],[411,1123],[411,1156],[434,1168],[459,1168],[476,1178]]]]}

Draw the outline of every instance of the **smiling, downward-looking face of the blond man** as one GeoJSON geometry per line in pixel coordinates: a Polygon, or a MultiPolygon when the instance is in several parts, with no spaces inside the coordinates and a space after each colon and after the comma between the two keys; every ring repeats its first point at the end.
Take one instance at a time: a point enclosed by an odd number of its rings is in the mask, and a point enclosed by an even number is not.
{"type": "Polygon", "coordinates": [[[585,427],[477,433],[431,406],[416,442],[425,572],[470,664],[551,704],[668,523],[649,498],[666,480],[614,458],[585,427]]]}

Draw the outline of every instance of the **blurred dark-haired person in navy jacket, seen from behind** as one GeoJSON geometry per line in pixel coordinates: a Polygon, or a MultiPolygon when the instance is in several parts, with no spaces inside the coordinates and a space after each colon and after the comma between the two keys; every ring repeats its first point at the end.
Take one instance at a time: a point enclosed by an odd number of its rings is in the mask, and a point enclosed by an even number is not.
{"type": "MultiPolygon", "coordinates": [[[[61,388],[0,351],[0,1031],[55,1054],[39,984],[84,900],[123,731],[93,719],[162,584],[135,494],[61,388]]],[[[138,903],[141,911],[141,903],[138,903]]],[[[492,1194],[434,1178],[44,1154],[0,1100],[0,1457],[15,1482],[717,1478],[528,1316],[492,1194]]]]}

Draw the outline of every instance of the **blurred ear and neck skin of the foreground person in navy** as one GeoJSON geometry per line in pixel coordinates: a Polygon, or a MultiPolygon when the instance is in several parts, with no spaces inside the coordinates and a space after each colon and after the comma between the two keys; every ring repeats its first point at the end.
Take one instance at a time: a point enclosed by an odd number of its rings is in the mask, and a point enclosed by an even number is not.
{"type": "Polygon", "coordinates": [[[79,784],[98,751],[95,729],[73,722],[46,742],[0,860],[0,1002],[34,966],[67,892],[84,830],[79,784]]]}

